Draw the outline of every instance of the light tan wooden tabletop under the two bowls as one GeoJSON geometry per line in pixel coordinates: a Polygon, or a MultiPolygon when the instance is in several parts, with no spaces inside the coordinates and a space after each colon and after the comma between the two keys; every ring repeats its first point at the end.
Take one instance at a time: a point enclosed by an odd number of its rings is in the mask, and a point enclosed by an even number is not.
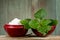
{"type": "Polygon", "coordinates": [[[60,40],[60,36],[48,37],[9,37],[5,35],[0,36],[0,40],[60,40]]]}

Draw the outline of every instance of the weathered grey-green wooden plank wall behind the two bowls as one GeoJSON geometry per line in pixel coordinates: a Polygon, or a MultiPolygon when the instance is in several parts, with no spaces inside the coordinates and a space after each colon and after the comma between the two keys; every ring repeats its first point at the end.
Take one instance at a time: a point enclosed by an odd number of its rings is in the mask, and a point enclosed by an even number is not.
{"type": "MultiPolygon", "coordinates": [[[[60,0],[0,0],[0,35],[6,34],[3,25],[14,18],[34,18],[39,8],[47,10],[47,17],[60,20],[60,0]]],[[[52,35],[60,34],[60,23],[52,35]]],[[[29,30],[31,33],[32,31],[29,30]]],[[[28,32],[28,33],[29,33],[28,32]]]]}

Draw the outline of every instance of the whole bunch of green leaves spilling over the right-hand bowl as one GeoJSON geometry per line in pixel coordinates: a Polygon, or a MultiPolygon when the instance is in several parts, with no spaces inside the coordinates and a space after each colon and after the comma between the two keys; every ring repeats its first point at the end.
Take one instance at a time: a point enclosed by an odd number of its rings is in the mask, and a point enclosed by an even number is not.
{"type": "Polygon", "coordinates": [[[36,29],[43,35],[46,35],[50,30],[52,25],[57,25],[57,20],[53,19],[45,19],[44,17],[47,15],[45,9],[39,9],[35,14],[35,19],[24,19],[21,20],[26,29],[36,29]]]}

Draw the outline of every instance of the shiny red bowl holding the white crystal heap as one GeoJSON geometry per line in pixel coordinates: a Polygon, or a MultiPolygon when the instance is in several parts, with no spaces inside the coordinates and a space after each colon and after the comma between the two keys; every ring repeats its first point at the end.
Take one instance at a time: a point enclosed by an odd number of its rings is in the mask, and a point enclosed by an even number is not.
{"type": "Polygon", "coordinates": [[[27,29],[25,29],[23,25],[5,24],[4,29],[11,37],[21,37],[25,36],[25,34],[27,33],[27,29]]]}

